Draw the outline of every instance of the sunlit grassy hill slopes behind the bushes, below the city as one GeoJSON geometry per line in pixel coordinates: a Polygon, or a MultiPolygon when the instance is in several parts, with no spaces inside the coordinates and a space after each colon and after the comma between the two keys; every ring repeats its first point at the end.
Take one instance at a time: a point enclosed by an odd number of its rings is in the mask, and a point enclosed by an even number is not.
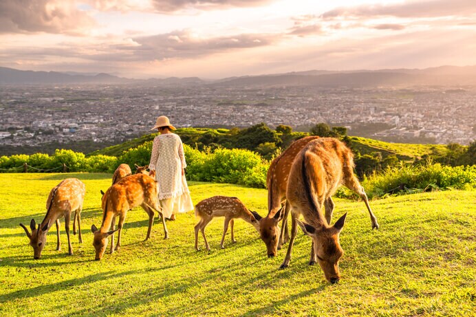
{"type": "MultiPolygon", "coordinates": [[[[197,140],[204,133],[215,133],[222,137],[230,137],[230,130],[228,129],[209,129],[209,128],[182,128],[175,131],[184,143],[195,147],[197,140]]],[[[308,135],[309,133],[294,133],[292,138],[299,138],[302,135],[308,135]]],[[[89,155],[103,154],[120,156],[124,151],[135,148],[144,142],[151,141],[155,138],[157,133],[151,133],[143,135],[141,138],[129,140],[122,144],[106,147],[89,155]]],[[[422,157],[423,155],[431,155],[433,153],[446,153],[448,150],[446,146],[442,144],[404,144],[404,143],[390,143],[369,138],[350,137],[352,147],[357,149],[362,155],[370,154],[372,152],[382,153],[382,157],[395,154],[399,160],[413,160],[415,157],[422,157]]]]}

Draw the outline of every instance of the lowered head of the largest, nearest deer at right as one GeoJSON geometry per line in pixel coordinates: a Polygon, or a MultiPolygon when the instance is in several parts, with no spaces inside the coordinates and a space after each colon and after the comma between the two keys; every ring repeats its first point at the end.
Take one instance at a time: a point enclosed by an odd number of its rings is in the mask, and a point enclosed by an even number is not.
{"type": "Polygon", "coordinates": [[[334,226],[319,229],[296,219],[299,227],[314,242],[314,254],[316,254],[317,262],[324,272],[325,279],[331,284],[340,280],[339,260],[344,251],[340,248],[339,234],[344,226],[346,216],[347,213],[340,217],[334,226]]]}

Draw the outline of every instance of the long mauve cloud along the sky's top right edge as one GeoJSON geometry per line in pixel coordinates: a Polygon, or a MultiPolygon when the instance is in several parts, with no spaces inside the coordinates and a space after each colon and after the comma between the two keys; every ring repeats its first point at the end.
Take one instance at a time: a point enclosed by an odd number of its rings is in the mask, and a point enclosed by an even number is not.
{"type": "Polygon", "coordinates": [[[474,0],[430,0],[405,1],[389,5],[374,4],[355,7],[341,7],[329,10],[321,15],[323,19],[338,17],[449,17],[453,15],[468,15],[476,13],[474,0]]]}

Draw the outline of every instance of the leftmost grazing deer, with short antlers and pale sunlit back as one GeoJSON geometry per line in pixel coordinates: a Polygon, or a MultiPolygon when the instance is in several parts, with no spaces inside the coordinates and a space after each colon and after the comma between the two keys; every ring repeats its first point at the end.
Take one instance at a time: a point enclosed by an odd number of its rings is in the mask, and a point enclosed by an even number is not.
{"type": "Polygon", "coordinates": [[[73,233],[76,234],[76,219],[78,219],[79,243],[83,243],[81,235],[81,210],[83,209],[83,200],[85,198],[85,184],[77,178],[64,179],[58,186],[50,191],[46,201],[46,215],[43,221],[36,228],[34,219],[30,221],[30,233],[28,229],[20,223],[21,228],[25,230],[30,239],[30,245],[33,247],[34,259],[40,259],[41,252],[45,247],[46,234],[53,223],[56,221],[56,250],[61,250],[59,237],[59,219],[65,217],[65,230],[68,237],[68,254],[73,254],[71,241],[69,240],[69,219],[74,212],[73,233]]]}

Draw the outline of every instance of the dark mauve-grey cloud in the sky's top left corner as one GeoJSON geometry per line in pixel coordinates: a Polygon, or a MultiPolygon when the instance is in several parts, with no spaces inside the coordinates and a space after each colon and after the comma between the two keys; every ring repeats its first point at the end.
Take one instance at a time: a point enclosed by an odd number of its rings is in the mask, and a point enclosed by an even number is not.
{"type": "Polygon", "coordinates": [[[72,1],[1,0],[0,33],[67,33],[79,35],[96,25],[72,1]]]}

